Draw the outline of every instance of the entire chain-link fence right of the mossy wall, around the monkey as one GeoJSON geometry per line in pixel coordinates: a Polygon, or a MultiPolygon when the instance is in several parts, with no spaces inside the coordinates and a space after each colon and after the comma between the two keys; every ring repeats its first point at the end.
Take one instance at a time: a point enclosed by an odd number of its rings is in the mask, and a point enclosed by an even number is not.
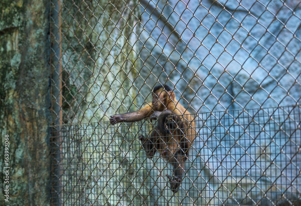
{"type": "Polygon", "coordinates": [[[300,205],[301,2],[52,0],[52,205],[300,205]],[[159,83],[195,117],[185,177],[146,157],[159,83]]]}

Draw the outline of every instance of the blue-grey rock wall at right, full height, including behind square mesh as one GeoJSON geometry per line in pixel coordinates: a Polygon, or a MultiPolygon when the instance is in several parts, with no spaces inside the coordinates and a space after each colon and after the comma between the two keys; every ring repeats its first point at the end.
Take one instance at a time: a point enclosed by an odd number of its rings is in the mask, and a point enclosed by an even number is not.
{"type": "MultiPolygon", "coordinates": [[[[141,16],[145,28],[140,35],[144,45],[140,53],[145,61],[141,76],[146,79],[148,85],[153,85],[159,80],[161,83],[166,82],[175,86],[176,96],[181,104],[186,102],[185,105],[188,106],[187,102],[190,103],[190,112],[270,108],[300,103],[301,10],[298,1],[286,1],[285,4],[281,1],[267,0],[168,1],[168,3],[158,1],[156,4],[141,1],[141,5],[146,11],[141,16]]],[[[265,112],[273,114],[269,110],[265,112]]],[[[239,116],[236,114],[233,117],[239,116]]],[[[275,121],[284,121],[279,118],[275,121]]],[[[298,122],[298,115],[292,118],[298,122]]],[[[237,118],[237,122],[240,123],[250,120],[237,118]]],[[[191,157],[194,166],[191,166],[188,177],[184,180],[186,184],[183,184],[185,189],[189,189],[190,198],[183,200],[183,203],[222,204],[230,195],[227,189],[233,190],[233,197],[247,205],[253,204],[252,201],[244,199],[246,193],[239,191],[250,191],[249,197],[259,201],[261,198],[264,199],[263,191],[268,189],[267,196],[270,200],[266,202],[267,204],[271,204],[271,200],[278,201],[281,198],[277,192],[300,193],[300,185],[297,184],[298,189],[289,187],[288,190],[286,190],[288,186],[285,185],[294,182],[293,178],[299,171],[297,165],[300,165],[300,154],[295,149],[300,142],[296,138],[300,133],[299,129],[297,134],[292,133],[291,136],[296,142],[290,143],[290,137],[281,135],[281,132],[274,136],[269,133],[271,136],[260,134],[240,137],[245,126],[236,127],[232,122],[232,126],[230,124],[222,127],[215,121],[206,122],[206,118],[203,121],[206,127],[201,128],[200,137],[195,140],[195,149],[191,157]],[[206,129],[209,132],[205,131],[206,129]],[[214,131],[213,135],[210,129],[214,131]],[[219,135],[215,129],[218,131],[221,129],[222,132],[228,129],[230,134],[219,135]],[[235,139],[239,139],[239,145],[235,143],[235,139]],[[244,156],[244,148],[249,147],[252,151],[244,156]],[[297,162],[295,166],[293,163],[285,168],[284,164],[281,164],[281,161],[287,159],[279,153],[280,148],[285,148],[287,156],[297,156],[297,159],[294,159],[297,162]],[[213,151],[214,155],[211,156],[213,151]],[[242,157],[252,159],[250,161],[256,159],[256,164],[261,167],[248,165],[248,160],[238,162],[236,167],[236,161],[242,157]],[[223,158],[225,162],[221,162],[223,158]],[[271,159],[276,162],[275,168],[271,164],[271,159]],[[232,174],[233,176],[229,174],[231,168],[237,169],[237,173],[232,174]],[[260,171],[264,168],[269,174],[260,171]],[[281,171],[284,171],[287,180],[282,179],[276,168],[282,168],[281,171]],[[240,175],[244,176],[245,171],[249,171],[249,175],[242,178],[240,175]],[[266,178],[262,177],[260,180],[255,178],[260,185],[258,187],[254,187],[254,178],[249,178],[255,174],[266,178]],[[200,177],[196,178],[196,175],[200,177]],[[227,175],[228,178],[225,179],[227,175]],[[278,178],[275,179],[275,175],[278,178]],[[222,181],[227,183],[224,184],[225,188],[219,187],[222,181]],[[239,187],[238,182],[241,183],[239,187]],[[271,182],[275,185],[271,185],[271,182]],[[216,198],[212,198],[214,194],[216,198]]],[[[225,120],[222,118],[221,121],[224,123],[225,120]]],[[[264,117],[260,117],[257,121],[266,123],[264,117]]],[[[267,123],[267,128],[268,126],[274,128],[274,122],[271,124],[272,126],[267,123]]],[[[284,125],[289,133],[296,129],[295,124],[284,125]]],[[[203,126],[202,122],[199,126],[203,126]]],[[[260,133],[261,129],[259,127],[256,129],[258,131],[254,132],[260,133]]],[[[274,129],[279,130],[279,127],[276,126],[274,129]]],[[[154,162],[157,165],[160,158],[154,159],[154,162]]],[[[156,177],[159,172],[153,167],[154,165],[150,165],[148,169],[156,177]]],[[[163,178],[160,182],[164,182],[163,178]]],[[[152,190],[154,199],[164,199],[160,196],[160,189],[165,185],[155,186],[151,183],[151,188],[154,188],[152,190]]],[[[166,190],[164,192],[165,195],[169,194],[166,190]]],[[[185,196],[185,190],[180,191],[178,196],[185,196]]],[[[227,201],[232,204],[229,202],[230,199],[227,201]]]]}

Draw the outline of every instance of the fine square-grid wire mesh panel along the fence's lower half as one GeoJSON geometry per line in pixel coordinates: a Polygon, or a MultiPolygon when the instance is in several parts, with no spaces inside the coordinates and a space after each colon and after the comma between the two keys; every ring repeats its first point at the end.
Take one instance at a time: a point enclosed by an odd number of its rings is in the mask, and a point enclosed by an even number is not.
{"type": "Polygon", "coordinates": [[[53,134],[62,137],[54,197],[63,205],[300,205],[300,111],[195,114],[196,139],[175,193],[165,176],[172,166],[160,152],[148,158],[138,139],[152,130],[148,119],[63,125],[53,134]]]}

